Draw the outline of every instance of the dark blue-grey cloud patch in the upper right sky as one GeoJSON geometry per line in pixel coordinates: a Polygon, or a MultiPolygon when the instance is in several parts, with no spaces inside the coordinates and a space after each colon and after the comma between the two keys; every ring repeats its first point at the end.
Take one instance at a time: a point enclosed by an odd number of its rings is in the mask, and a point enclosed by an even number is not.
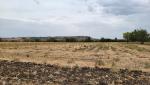
{"type": "Polygon", "coordinates": [[[147,3],[141,3],[141,0],[93,0],[93,2],[87,0],[85,2],[89,3],[89,11],[103,7],[105,13],[114,15],[132,15],[150,12],[150,3],[148,0],[147,3]]]}

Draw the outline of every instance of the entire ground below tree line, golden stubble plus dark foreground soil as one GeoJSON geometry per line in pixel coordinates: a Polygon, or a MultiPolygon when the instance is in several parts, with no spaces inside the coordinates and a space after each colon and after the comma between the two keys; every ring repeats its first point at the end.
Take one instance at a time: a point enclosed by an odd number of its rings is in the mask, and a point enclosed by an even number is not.
{"type": "Polygon", "coordinates": [[[149,43],[1,42],[0,60],[4,85],[150,84],[149,43]]]}

